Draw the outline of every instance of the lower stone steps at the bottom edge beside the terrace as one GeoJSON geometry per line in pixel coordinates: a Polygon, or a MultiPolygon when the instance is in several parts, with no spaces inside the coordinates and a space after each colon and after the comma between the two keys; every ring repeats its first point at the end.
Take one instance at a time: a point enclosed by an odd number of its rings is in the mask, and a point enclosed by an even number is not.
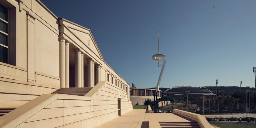
{"type": "Polygon", "coordinates": [[[197,122],[159,122],[162,128],[200,128],[197,122]]]}

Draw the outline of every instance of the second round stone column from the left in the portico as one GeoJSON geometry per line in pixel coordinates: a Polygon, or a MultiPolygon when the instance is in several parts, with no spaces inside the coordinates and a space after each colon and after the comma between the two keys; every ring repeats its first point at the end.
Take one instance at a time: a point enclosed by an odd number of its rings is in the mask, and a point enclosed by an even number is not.
{"type": "Polygon", "coordinates": [[[69,88],[69,41],[65,43],[65,87],[69,88]]]}

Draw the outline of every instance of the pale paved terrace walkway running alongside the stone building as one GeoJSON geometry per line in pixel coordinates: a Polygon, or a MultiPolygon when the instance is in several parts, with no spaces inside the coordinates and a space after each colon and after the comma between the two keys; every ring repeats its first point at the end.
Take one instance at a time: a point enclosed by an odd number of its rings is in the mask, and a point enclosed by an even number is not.
{"type": "Polygon", "coordinates": [[[188,122],[172,113],[145,113],[145,109],[134,109],[122,116],[119,116],[97,128],[148,128],[149,114],[153,114],[158,119],[158,122],[188,122]]]}

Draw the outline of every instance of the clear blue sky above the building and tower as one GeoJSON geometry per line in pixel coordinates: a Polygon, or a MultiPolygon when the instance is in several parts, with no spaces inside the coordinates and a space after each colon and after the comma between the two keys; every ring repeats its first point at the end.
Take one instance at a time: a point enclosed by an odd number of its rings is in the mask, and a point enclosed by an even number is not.
{"type": "Polygon", "coordinates": [[[56,16],[89,28],[104,60],[131,86],[255,87],[255,0],[41,0],[56,16]],[[215,9],[212,9],[212,6],[215,9]],[[112,50],[113,49],[113,50],[112,50]]]}

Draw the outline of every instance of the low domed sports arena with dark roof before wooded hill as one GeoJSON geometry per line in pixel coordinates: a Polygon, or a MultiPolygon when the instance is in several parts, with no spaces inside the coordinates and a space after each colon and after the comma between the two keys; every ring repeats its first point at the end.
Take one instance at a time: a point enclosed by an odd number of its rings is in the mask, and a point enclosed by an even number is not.
{"type": "Polygon", "coordinates": [[[191,87],[191,86],[176,86],[173,88],[169,88],[164,91],[165,96],[179,96],[179,95],[190,95],[190,96],[211,96],[216,95],[212,93],[212,91],[203,88],[203,87],[191,87]]]}

